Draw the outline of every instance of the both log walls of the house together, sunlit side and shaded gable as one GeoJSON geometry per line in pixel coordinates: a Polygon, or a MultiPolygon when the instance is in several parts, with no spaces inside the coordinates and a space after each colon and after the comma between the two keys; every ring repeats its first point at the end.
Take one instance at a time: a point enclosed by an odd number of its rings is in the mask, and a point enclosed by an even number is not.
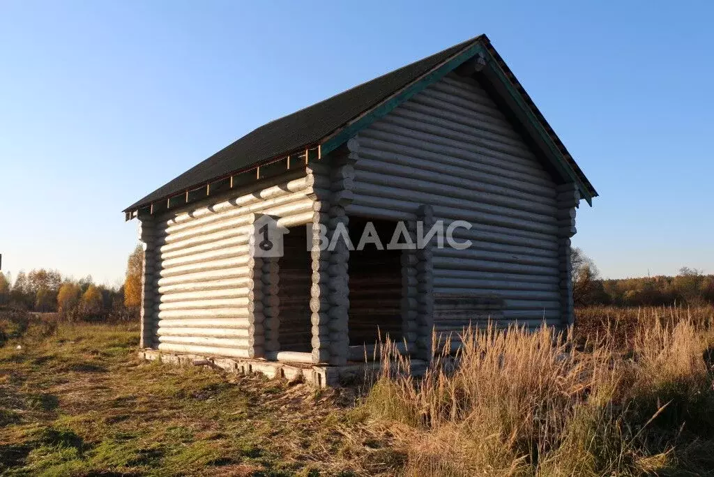
{"type": "Polygon", "coordinates": [[[473,225],[456,231],[470,248],[438,248],[434,237],[393,263],[401,273],[401,285],[390,285],[401,296],[394,333],[414,357],[431,357],[433,326],[448,333],[474,319],[571,323],[568,251],[579,196],[562,182],[476,81],[449,75],[306,170],[141,216],[142,345],[333,365],[362,356],[349,343],[349,326],[359,326],[350,305],[351,295],[370,303],[367,288],[350,283],[343,243],[320,247],[319,226],[332,236],[350,216],[406,221],[413,239],[418,221],[427,230],[436,221],[473,225]],[[304,260],[251,256],[261,214],[284,227],[313,224],[304,260]]]}

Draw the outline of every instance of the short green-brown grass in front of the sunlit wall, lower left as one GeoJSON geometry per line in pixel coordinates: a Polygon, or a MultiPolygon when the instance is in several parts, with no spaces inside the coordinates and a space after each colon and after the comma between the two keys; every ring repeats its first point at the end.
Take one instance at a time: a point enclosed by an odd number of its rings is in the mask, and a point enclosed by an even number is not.
{"type": "Polygon", "coordinates": [[[136,326],[33,323],[0,348],[0,474],[348,476],[401,466],[353,393],[140,362],[138,336],[136,326]]]}

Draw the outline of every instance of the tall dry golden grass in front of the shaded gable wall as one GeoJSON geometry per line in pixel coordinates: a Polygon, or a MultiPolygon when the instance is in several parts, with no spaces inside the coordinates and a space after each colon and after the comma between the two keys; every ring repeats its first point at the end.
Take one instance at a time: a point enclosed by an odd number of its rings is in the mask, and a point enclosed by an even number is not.
{"type": "Polygon", "coordinates": [[[611,326],[577,341],[572,330],[469,328],[456,358],[419,379],[386,343],[365,406],[408,447],[406,475],[704,475],[711,316],[662,311],[641,310],[627,341],[611,326]]]}

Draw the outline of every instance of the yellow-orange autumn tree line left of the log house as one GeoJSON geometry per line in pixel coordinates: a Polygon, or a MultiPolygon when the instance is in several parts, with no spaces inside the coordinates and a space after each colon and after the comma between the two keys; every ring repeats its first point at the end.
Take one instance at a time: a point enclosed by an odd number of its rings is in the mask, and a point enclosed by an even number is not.
{"type": "Polygon", "coordinates": [[[129,254],[124,284],[118,288],[98,285],[91,276],[76,280],[46,268],[20,271],[14,280],[10,273],[0,273],[0,306],[55,312],[68,320],[136,319],[141,303],[142,255],[141,246],[129,254]]]}

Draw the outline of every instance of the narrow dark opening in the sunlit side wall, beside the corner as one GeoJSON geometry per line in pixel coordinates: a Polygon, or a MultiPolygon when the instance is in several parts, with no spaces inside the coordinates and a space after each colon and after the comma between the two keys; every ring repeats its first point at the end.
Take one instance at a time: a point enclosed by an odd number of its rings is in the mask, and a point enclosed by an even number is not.
{"type": "Polygon", "coordinates": [[[283,235],[284,253],[278,259],[278,298],[280,298],[280,328],[278,342],[281,351],[312,351],[310,321],[310,288],[312,266],[307,251],[306,226],[295,226],[283,235]]]}

